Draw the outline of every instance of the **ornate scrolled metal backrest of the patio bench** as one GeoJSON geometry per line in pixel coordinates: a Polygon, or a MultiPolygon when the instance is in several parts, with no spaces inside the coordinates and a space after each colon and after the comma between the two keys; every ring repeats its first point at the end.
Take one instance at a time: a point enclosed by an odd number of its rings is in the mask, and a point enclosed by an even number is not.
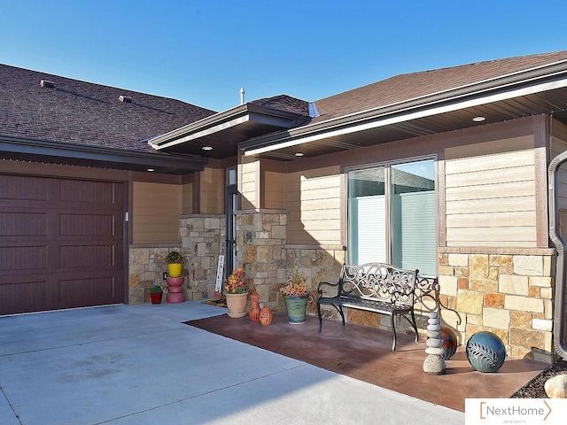
{"type": "Polygon", "coordinates": [[[417,273],[418,270],[383,263],[345,264],[340,272],[338,295],[411,306],[417,273]]]}

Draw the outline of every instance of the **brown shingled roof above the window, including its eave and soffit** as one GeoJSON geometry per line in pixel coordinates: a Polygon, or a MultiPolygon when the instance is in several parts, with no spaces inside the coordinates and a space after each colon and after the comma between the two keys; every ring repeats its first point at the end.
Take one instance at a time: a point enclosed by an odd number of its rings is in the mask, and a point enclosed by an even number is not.
{"type": "Polygon", "coordinates": [[[478,116],[488,124],[553,114],[567,124],[567,50],[406,73],[314,104],[309,122],[240,149],[290,160],[469,128],[478,116]]]}

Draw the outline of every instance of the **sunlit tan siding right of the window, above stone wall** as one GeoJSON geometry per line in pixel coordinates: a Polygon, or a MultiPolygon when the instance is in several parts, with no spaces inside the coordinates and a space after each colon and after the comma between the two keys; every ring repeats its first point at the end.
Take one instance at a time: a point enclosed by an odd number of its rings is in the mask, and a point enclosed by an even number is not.
{"type": "Polygon", "coordinates": [[[447,149],[447,246],[536,247],[535,178],[532,136],[447,149]]]}

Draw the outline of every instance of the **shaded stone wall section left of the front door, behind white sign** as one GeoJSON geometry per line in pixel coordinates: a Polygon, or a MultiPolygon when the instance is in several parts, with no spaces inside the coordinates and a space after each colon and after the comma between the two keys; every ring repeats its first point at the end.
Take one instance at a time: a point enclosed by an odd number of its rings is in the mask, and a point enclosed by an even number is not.
{"type": "Polygon", "coordinates": [[[213,298],[219,255],[225,255],[226,251],[226,215],[184,214],[180,234],[188,257],[186,299],[213,298]]]}

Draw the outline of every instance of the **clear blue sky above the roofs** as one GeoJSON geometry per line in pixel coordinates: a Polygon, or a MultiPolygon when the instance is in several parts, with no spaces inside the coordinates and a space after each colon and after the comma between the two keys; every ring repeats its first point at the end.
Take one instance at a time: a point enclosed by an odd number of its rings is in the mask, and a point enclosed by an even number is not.
{"type": "MultiPolygon", "coordinates": [[[[0,63],[224,111],[567,50],[563,1],[0,0],[0,63]]],[[[1,81],[0,81],[1,83],[1,81]]]]}

